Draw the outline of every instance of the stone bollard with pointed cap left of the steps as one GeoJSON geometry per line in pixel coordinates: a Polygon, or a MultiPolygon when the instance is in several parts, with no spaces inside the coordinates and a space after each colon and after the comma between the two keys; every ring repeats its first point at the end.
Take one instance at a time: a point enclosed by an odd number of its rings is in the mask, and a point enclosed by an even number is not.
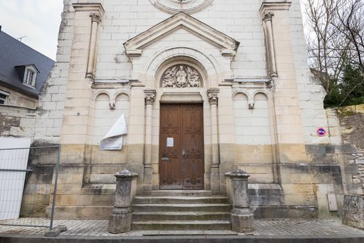
{"type": "Polygon", "coordinates": [[[109,219],[109,232],[113,234],[125,233],[132,230],[131,190],[132,180],[138,174],[123,169],[115,174],[116,194],[114,210],[109,219]]]}

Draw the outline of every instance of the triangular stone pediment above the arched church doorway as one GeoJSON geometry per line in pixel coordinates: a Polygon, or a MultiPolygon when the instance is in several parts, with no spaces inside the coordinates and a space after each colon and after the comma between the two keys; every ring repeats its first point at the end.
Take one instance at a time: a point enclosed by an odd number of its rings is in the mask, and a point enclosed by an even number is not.
{"type": "Polygon", "coordinates": [[[128,56],[141,56],[142,50],[148,45],[157,42],[179,28],[184,28],[189,33],[213,44],[221,50],[223,56],[233,56],[240,44],[232,37],[211,28],[211,26],[200,22],[198,19],[184,12],[179,12],[125,42],[126,53],[128,56]]]}

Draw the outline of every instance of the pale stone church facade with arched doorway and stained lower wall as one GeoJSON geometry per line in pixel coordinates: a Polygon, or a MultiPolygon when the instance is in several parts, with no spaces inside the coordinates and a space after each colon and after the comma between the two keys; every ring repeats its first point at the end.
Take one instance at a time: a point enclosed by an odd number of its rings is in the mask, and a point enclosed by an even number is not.
{"type": "Polygon", "coordinates": [[[243,169],[262,215],[336,214],[340,134],[306,58],[298,0],[64,1],[35,135],[62,146],[58,217],[107,218],[123,168],[137,194],[226,194],[243,169]]]}

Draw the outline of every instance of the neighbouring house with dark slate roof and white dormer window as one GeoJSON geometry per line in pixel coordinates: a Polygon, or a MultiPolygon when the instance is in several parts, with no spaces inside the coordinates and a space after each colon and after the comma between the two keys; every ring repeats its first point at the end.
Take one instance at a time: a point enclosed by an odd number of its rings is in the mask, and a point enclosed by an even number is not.
{"type": "Polygon", "coordinates": [[[53,65],[0,31],[0,136],[34,137],[38,96],[53,65]]]}

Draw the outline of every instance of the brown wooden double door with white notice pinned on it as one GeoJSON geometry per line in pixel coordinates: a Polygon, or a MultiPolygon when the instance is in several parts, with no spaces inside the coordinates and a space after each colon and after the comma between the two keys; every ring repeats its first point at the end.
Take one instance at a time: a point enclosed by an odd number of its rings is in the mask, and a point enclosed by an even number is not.
{"type": "Polygon", "coordinates": [[[204,189],[203,108],[161,104],[159,188],[204,189]]]}

